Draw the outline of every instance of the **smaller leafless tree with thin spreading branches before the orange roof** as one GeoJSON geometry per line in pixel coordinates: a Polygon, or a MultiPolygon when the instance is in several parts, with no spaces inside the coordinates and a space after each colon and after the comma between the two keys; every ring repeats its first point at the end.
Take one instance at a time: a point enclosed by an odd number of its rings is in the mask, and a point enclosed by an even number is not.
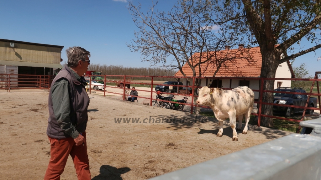
{"type": "MultiPolygon", "coordinates": [[[[182,69],[185,64],[192,70],[193,77],[202,77],[202,64],[214,64],[217,72],[225,62],[233,59],[233,55],[226,51],[218,58],[216,52],[227,45],[236,46],[243,38],[217,33],[217,25],[211,19],[200,18],[201,12],[195,2],[179,0],[169,12],[157,11],[156,2],[146,13],[142,12],[141,4],[136,6],[129,2],[129,11],[138,31],[127,45],[132,51],[142,53],[143,61],[150,62],[152,66],[179,70],[185,77],[186,72],[182,69]]],[[[200,86],[200,78],[195,81],[195,86],[200,86]]],[[[191,85],[188,78],[187,82],[191,85]]],[[[196,108],[195,113],[199,112],[196,108]]]]}

